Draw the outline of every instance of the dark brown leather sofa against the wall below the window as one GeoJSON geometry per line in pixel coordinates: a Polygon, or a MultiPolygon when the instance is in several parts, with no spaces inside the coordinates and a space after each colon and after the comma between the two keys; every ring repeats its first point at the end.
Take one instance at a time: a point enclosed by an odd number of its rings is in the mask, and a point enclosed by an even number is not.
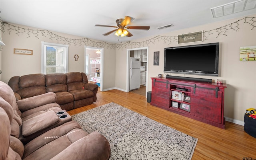
{"type": "Polygon", "coordinates": [[[14,76],[10,78],[8,85],[14,91],[16,100],[54,92],[57,103],[66,111],[97,100],[98,85],[88,83],[83,72],[14,76]]]}

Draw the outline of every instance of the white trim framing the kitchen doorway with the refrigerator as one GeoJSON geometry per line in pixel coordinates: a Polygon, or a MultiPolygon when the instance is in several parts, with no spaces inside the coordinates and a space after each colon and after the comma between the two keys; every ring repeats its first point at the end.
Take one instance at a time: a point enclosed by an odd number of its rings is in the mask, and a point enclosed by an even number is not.
{"type": "MultiPolygon", "coordinates": [[[[141,47],[141,48],[133,48],[133,49],[127,49],[127,66],[126,66],[126,77],[127,77],[127,83],[126,83],[126,92],[129,92],[130,90],[130,51],[135,50],[141,50],[146,49],[147,50],[147,74],[146,74],[146,93],[148,92],[148,47],[141,47]]],[[[147,98],[146,94],[146,98],[147,98]]]]}

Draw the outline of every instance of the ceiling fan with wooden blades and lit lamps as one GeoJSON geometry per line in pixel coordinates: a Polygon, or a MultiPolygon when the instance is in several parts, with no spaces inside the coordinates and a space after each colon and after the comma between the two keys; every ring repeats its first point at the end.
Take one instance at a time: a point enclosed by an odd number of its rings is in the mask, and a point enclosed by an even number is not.
{"type": "Polygon", "coordinates": [[[96,24],[95,26],[100,26],[100,27],[115,27],[118,29],[114,29],[112,31],[109,31],[103,35],[110,35],[111,33],[115,32],[115,35],[117,36],[127,36],[127,37],[132,37],[132,33],[130,33],[129,31],[127,31],[126,29],[143,29],[143,30],[148,30],[150,28],[150,26],[127,26],[132,20],[134,20],[134,18],[130,17],[130,16],[125,16],[125,18],[120,18],[116,20],[116,25],[117,26],[112,26],[112,25],[101,25],[101,24],[96,24]]]}

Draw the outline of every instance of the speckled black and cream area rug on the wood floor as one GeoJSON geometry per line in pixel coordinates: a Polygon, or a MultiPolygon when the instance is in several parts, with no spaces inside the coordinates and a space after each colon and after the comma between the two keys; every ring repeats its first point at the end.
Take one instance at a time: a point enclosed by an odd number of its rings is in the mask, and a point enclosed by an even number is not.
{"type": "Polygon", "coordinates": [[[198,140],[114,102],[72,119],[108,139],[110,160],[190,160],[198,140]]]}

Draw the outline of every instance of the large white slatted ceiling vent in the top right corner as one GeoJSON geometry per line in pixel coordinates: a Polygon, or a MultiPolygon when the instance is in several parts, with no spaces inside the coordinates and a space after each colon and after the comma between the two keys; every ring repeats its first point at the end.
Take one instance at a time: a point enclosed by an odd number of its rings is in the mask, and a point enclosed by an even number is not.
{"type": "Polygon", "coordinates": [[[256,8],[256,0],[238,0],[222,6],[211,8],[213,18],[251,10],[256,8]]]}

